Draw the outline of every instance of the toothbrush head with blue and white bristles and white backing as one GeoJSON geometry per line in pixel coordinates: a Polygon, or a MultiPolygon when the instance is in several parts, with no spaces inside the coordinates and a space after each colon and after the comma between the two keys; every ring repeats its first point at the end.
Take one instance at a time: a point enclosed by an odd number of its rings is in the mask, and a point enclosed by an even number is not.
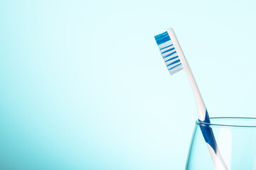
{"type": "Polygon", "coordinates": [[[172,75],[181,71],[183,69],[183,65],[181,64],[183,52],[178,44],[174,30],[169,28],[166,32],[154,36],[154,38],[170,74],[172,75]]]}

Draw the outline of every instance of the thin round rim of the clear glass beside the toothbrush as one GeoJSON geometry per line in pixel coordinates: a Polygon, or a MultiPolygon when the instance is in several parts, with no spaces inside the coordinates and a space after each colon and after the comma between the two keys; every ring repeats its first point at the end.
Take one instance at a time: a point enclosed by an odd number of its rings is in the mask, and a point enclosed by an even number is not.
{"type": "MultiPolygon", "coordinates": [[[[256,118],[249,118],[249,117],[213,117],[210,118],[210,120],[214,120],[214,119],[240,119],[240,120],[255,120],[256,122],[256,118]]],[[[231,125],[230,124],[225,124],[225,123],[203,123],[203,122],[199,122],[198,120],[196,120],[196,125],[208,125],[208,126],[225,126],[225,127],[242,127],[242,128],[256,128],[256,123],[255,125],[231,125]]]]}

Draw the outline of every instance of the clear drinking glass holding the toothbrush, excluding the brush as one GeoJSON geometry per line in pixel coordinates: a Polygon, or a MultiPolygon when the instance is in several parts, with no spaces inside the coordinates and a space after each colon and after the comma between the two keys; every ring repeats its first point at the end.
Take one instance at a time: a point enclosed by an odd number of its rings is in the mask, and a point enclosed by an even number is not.
{"type": "Polygon", "coordinates": [[[210,123],[196,121],[185,169],[215,169],[200,125],[212,128],[229,170],[256,169],[256,118],[233,117],[210,118],[210,123]]]}

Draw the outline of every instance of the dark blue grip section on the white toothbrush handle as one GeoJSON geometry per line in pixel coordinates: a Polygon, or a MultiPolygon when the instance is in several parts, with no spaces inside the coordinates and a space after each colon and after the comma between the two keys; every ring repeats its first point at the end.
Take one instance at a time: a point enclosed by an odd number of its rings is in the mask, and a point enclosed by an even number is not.
{"type": "MultiPolygon", "coordinates": [[[[210,118],[209,118],[207,110],[206,110],[205,120],[201,121],[198,119],[198,121],[203,122],[203,123],[210,123],[210,118]]],[[[216,153],[217,152],[217,143],[216,143],[215,137],[213,135],[213,130],[210,128],[209,125],[200,124],[199,126],[203,133],[203,138],[206,140],[206,143],[208,143],[208,145],[210,145],[210,147],[212,147],[214,152],[216,153]]]]}

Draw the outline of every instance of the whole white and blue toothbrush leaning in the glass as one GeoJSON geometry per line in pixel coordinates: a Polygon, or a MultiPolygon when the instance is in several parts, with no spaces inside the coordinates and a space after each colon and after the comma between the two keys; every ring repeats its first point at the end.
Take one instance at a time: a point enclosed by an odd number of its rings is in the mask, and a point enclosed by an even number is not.
{"type": "MultiPolygon", "coordinates": [[[[189,67],[185,56],[183,55],[181,46],[178,43],[174,30],[169,28],[166,32],[156,35],[154,38],[156,39],[156,43],[159,46],[159,50],[162,57],[164,58],[164,62],[166,63],[166,67],[170,74],[173,75],[182,69],[185,70],[188,80],[192,86],[193,94],[196,98],[196,106],[198,108],[198,121],[203,123],[210,123],[206,105],[203,102],[203,98],[198,89],[198,85],[196,84],[196,80],[193,77],[193,73],[191,72],[191,68],[189,67]]],[[[228,170],[228,167],[225,165],[225,162],[221,157],[220,151],[215,141],[215,137],[213,135],[213,130],[207,125],[200,125],[200,128],[210,152],[210,156],[213,159],[215,169],[228,170]]]]}

